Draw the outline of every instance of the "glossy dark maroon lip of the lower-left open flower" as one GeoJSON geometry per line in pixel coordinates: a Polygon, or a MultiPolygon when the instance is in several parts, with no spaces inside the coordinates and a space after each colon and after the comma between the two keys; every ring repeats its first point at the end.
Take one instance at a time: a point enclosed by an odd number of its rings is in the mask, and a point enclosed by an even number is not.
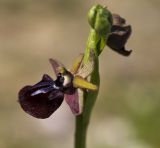
{"type": "Polygon", "coordinates": [[[61,91],[63,79],[58,80],[44,75],[42,80],[33,85],[25,86],[19,91],[19,103],[22,109],[33,117],[45,119],[59,108],[64,99],[61,91]]]}

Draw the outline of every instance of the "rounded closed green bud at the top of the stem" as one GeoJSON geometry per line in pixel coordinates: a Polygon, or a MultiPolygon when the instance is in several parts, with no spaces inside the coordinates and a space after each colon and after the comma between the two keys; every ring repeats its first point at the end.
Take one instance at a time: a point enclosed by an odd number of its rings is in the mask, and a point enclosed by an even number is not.
{"type": "Polygon", "coordinates": [[[106,7],[93,6],[89,10],[88,21],[91,27],[102,36],[106,36],[111,31],[112,14],[106,7]]]}

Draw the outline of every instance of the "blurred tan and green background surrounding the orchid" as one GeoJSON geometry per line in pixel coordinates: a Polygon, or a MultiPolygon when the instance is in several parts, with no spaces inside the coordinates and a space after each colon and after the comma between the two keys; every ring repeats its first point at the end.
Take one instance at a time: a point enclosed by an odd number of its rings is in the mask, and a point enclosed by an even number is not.
{"type": "Polygon", "coordinates": [[[44,73],[55,78],[48,58],[69,67],[84,51],[86,14],[97,3],[132,25],[133,53],[106,47],[100,57],[88,148],[160,147],[159,0],[0,0],[0,148],[73,148],[74,116],[65,102],[38,120],[22,111],[17,93],[44,73]]]}

